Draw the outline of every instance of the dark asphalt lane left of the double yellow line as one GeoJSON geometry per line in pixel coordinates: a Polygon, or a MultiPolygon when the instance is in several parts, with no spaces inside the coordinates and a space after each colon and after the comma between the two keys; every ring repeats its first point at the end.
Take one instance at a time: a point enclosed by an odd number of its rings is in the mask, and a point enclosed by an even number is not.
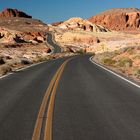
{"type": "Polygon", "coordinates": [[[46,89],[66,58],[0,79],[0,139],[31,140],[46,89]]]}

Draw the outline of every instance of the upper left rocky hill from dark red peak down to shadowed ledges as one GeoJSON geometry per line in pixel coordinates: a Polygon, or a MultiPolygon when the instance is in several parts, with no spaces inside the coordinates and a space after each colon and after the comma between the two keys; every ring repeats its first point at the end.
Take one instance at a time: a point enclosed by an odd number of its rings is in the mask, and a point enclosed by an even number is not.
{"type": "Polygon", "coordinates": [[[47,24],[17,9],[0,13],[0,43],[44,42],[47,24]]]}

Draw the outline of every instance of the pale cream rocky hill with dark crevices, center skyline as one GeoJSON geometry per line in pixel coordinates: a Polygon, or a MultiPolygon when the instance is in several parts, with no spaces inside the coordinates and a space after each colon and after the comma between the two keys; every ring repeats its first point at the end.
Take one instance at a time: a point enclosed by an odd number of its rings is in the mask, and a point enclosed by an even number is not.
{"type": "Polygon", "coordinates": [[[64,21],[58,24],[58,27],[61,29],[68,30],[84,30],[91,32],[108,32],[109,30],[103,26],[93,24],[88,20],[84,20],[79,17],[70,18],[67,21],[64,21]]]}

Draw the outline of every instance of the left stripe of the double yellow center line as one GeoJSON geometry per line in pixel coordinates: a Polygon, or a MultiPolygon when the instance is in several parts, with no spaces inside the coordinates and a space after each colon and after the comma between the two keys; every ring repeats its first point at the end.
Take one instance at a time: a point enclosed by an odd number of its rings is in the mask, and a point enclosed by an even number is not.
{"type": "Polygon", "coordinates": [[[52,78],[52,80],[51,80],[51,82],[48,86],[48,89],[45,93],[45,96],[44,96],[42,104],[40,106],[39,113],[38,113],[38,116],[37,116],[37,120],[36,120],[36,123],[35,123],[35,128],[34,128],[34,132],[33,132],[33,135],[32,135],[32,140],[40,140],[43,117],[44,117],[46,106],[47,106],[47,103],[48,103],[48,100],[49,100],[49,96],[51,94],[51,91],[53,89],[53,86],[55,84],[55,81],[56,81],[57,77],[60,75],[59,73],[61,72],[61,69],[63,68],[63,65],[65,64],[65,62],[56,71],[56,73],[53,76],[53,78],[52,78]]]}

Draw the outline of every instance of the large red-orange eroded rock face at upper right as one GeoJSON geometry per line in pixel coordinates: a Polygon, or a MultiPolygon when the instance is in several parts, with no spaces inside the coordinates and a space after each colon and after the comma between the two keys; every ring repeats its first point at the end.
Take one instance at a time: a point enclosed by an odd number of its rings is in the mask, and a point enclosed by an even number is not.
{"type": "Polygon", "coordinates": [[[89,21],[112,30],[137,30],[140,29],[140,10],[111,9],[89,18],[89,21]]]}

